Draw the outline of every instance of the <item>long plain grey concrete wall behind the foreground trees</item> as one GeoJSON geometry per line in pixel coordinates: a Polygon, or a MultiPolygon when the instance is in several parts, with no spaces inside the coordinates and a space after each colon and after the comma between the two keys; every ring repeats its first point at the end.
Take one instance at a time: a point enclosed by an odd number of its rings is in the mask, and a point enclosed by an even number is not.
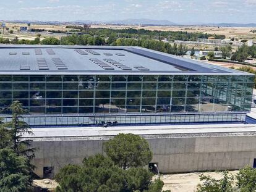
{"type": "MultiPolygon", "coordinates": [[[[153,151],[152,162],[158,163],[160,172],[193,172],[203,170],[233,170],[252,165],[256,158],[255,135],[144,136],[153,151]]],[[[54,173],[66,164],[80,164],[84,157],[103,154],[106,137],[88,137],[83,140],[61,138],[38,140],[33,164],[35,172],[43,177],[43,167],[54,167],[54,173]]]]}

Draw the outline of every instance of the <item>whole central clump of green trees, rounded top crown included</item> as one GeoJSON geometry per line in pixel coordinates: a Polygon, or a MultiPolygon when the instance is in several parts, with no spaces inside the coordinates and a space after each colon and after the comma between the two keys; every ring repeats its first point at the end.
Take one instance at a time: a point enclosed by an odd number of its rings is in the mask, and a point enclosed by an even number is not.
{"type": "MultiPolygon", "coordinates": [[[[83,159],[67,165],[56,175],[57,192],[161,192],[163,182],[142,166],[151,160],[147,141],[132,134],[119,134],[105,145],[107,156],[83,159]],[[117,156],[120,157],[117,157],[117,156]],[[129,167],[129,169],[125,169],[129,167]],[[124,168],[124,169],[122,169],[124,168]]],[[[166,191],[168,192],[168,191],[166,191]]]]}

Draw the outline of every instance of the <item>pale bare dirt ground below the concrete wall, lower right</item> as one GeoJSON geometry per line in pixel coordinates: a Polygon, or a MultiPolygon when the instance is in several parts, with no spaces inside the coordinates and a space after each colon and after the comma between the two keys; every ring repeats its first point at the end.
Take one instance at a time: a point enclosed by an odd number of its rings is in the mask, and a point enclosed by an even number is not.
{"type": "MultiPolygon", "coordinates": [[[[236,175],[238,171],[229,172],[236,175]]],[[[163,175],[161,180],[164,182],[163,190],[171,190],[171,192],[194,192],[200,183],[199,175],[202,173],[183,173],[174,175],[163,175]]],[[[221,172],[205,172],[215,179],[222,178],[221,172]]]]}

